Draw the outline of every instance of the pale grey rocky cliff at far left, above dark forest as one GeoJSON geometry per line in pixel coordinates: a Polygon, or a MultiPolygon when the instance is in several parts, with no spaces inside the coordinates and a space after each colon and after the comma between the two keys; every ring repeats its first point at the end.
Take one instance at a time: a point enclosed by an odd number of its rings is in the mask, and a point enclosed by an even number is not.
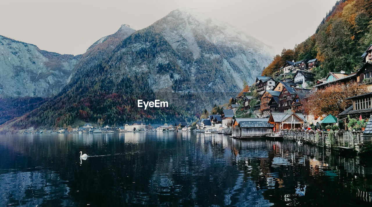
{"type": "Polygon", "coordinates": [[[79,59],[0,35],[0,97],[56,95],[79,59]]]}

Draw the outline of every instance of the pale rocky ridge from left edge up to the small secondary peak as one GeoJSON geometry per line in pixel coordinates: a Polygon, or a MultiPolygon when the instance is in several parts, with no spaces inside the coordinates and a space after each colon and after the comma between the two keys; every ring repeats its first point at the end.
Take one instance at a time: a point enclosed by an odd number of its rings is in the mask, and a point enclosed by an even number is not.
{"type": "Polygon", "coordinates": [[[82,55],[61,55],[0,35],[0,97],[57,95],[77,71],[103,60],[135,30],[121,25],[82,55]]]}

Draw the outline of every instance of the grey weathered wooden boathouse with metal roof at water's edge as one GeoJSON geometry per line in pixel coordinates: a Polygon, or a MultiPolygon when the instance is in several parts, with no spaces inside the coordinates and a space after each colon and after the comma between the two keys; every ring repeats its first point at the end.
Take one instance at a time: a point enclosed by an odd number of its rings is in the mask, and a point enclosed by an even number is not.
{"type": "Polygon", "coordinates": [[[267,130],[274,127],[270,124],[268,118],[235,118],[232,124],[232,137],[264,137],[267,130]]]}

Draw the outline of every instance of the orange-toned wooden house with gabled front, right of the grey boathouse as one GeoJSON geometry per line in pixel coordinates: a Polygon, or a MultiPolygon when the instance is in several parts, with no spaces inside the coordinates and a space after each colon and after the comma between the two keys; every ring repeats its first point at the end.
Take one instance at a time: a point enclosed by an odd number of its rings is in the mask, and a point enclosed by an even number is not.
{"type": "Polygon", "coordinates": [[[294,112],[272,112],[268,122],[274,125],[276,131],[283,129],[303,128],[305,117],[302,114],[296,114],[294,112]]]}

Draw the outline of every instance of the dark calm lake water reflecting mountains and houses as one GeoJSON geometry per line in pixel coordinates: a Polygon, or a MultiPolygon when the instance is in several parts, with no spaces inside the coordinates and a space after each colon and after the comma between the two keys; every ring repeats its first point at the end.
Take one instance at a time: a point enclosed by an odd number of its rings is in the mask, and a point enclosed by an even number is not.
{"type": "Polygon", "coordinates": [[[0,136],[0,206],[372,206],[372,162],[221,134],[0,136]],[[78,152],[92,157],[80,160],[78,152]]]}

